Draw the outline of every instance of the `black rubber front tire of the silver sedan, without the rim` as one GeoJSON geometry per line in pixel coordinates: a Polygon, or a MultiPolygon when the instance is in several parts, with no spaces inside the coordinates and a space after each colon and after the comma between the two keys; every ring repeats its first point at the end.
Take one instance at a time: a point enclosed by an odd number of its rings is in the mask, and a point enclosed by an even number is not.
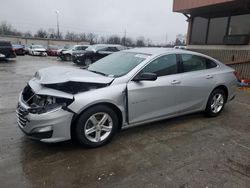
{"type": "MultiPolygon", "coordinates": [[[[116,113],[114,112],[114,110],[104,105],[98,105],[98,106],[94,106],[94,107],[87,109],[78,118],[76,122],[76,126],[75,126],[75,137],[76,137],[76,140],[82,146],[88,147],[88,148],[96,148],[96,147],[100,147],[100,146],[107,144],[113,138],[117,130],[118,130],[118,117],[116,113]],[[108,114],[110,118],[112,119],[113,126],[107,138],[105,138],[104,140],[100,140],[99,142],[93,142],[89,140],[87,136],[85,135],[85,127],[88,126],[87,122],[89,121],[89,118],[98,113],[108,114]]],[[[93,134],[97,134],[96,131],[93,132],[93,134]]]]}

